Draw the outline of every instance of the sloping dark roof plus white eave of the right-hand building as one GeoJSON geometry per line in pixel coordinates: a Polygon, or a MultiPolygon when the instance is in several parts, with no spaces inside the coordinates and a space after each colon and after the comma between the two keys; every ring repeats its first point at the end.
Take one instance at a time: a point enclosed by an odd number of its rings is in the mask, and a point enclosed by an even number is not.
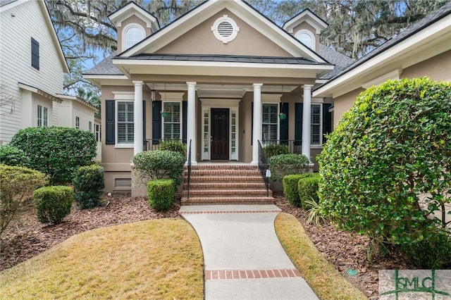
{"type": "MultiPolygon", "coordinates": [[[[447,44],[447,49],[451,49],[450,14],[451,2],[448,2],[447,4],[438,8],[436,11],[433,11],[433,13],[427,15],[418,23],[407,27],[407,29],[400,32],[392,39],[389,39],[387,42],[385,42],[381,46],[378,46],[378,48],[374,49],[369,54],[366,54],[359,60],[355,61],[340,73],[331,77],[326,84],[314,90],[313,96],[330,95],[331,91],[335,87],[340,87],[340,85],[342,85],[342,82],[349,82],[351,76],[352,78],[357,78],[363,72],[371,72],[370,67],[373,68],[374,64],[380,67],[384,63],[384,61],[386,61],[386,67],[389,68],[390,65],[388,63],[393,62],[395,56],[400,55],[401,51],[409,54],[409,49],[416,50],[419,49],[419,46],[428,46],[428,43],[433,39],[438,39],[440,41],[443,40],[444,44],[447,44]],[[431,32],[426,32],[426,30],[431,30],[431,32]],[[412,44],[403,44],[404,42],[408,42],[409,39],[412,40],[412,44]],[[381,62],[379,62],[378,59],[380,59],[381,62]]],[[[430,47],[430,49],[432,56],[434,49],[433,47],[430,47]]],[[[402,59],[402,55],[399,59],[402,59]]],[[[390,70],[387,71],[389,72],[390,70]]]]}

